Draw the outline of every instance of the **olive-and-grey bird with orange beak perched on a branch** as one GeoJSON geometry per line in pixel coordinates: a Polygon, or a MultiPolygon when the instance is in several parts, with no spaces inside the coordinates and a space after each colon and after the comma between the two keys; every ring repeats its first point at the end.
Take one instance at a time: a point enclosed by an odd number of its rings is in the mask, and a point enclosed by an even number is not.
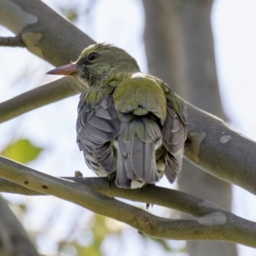
{"type": "Polygon", "coordinates": [[[99,177],[126,189],[155,184],[180,172],[186,104],[161,79],[112,44],[89,45],[77,61],[47,74],[77,77],[86,86],[78,104],[77,144],[99,177]]]}

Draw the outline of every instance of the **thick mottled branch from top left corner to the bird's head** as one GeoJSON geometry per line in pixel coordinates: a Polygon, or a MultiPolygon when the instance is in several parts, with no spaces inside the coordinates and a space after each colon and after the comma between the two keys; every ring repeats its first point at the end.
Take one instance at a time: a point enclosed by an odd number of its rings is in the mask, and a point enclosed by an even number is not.
{"type": "Polygon", "coordinates": [[[20,35],[30,52],[55,66],[75,61],[95,43],[39,0],[0,1],[0,24],[20,35]]]}

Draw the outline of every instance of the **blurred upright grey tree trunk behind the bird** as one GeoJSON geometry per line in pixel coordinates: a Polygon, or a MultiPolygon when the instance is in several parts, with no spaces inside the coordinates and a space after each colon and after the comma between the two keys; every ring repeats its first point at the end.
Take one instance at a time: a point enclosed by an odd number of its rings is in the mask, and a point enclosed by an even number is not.
{"type": "MultiPolygon", "coordinates": [[[[211,33],[212,1],[144,0],[148,68],[198,108],[224,117],[211,33]]],[[[204,125],[204,124],[203,124],[204,125]]],[[[181,191],[231,210],[231,186],[184,161],[181,191]]],[[[190,255],[236,255],[234,244],[188,242],[190,255]]]]}

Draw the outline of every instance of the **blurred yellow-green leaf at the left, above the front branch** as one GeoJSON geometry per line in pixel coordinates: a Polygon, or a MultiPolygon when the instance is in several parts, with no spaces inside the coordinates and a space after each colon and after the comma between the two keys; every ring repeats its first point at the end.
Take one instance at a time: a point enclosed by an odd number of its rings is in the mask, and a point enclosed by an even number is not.
{"type": "Polygon", "coordinates": [[[28,139],[20,139],[10,143],[0,154],[1,156],[25,164],[36,159],[42,149],[33,145],[28,139]]]}

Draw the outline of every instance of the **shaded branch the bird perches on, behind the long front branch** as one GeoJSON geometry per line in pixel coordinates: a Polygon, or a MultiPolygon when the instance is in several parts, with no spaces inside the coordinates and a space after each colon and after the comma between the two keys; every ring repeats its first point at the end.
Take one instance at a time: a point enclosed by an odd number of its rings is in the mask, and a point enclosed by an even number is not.
{"type": "MultiPolygon", "coordinates": [[[[119,197],[134,202],[161,205],[180,212],[185,212],[195,217],[202,217],[205,214],[216,211],[216,209],[224,211],[224,209],[221,209],[218,205],[212,204],[211,202],[205,202],[205,200],[197,198],[196,196],[174,189],[161,188],[159,186],[147,185],[141,191],[140,189],[129,190],[118,188],[115,186],[114,181],[112,181],[111,186],[109,186],[109,180],[107,178],[60,177],[60,179],[81,183],[109,197],[119,197]],[[163,197],[163,195],[165,196],[163,197]]],[[[44,195],[6,179],[0,179],[0,192],[22,195],[44,195]]]]}

